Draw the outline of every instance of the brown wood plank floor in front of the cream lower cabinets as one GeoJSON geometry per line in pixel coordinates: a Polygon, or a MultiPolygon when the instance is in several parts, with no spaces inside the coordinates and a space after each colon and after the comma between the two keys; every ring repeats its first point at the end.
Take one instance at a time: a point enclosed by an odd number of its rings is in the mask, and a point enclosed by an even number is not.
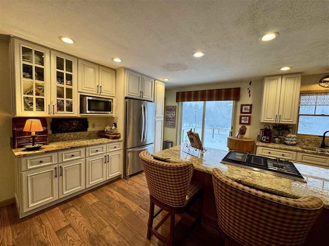
{"type": "MultiPolygon", "coordinates": [[[[154,225],[166,214],[161,212],[154,225]]],[[[0,245],[165,245],[154,236],[146,238],[148,215],[149,190],[140,173],[22,219],[14,204],[0,208],[0,245]]],[[[176,216],[177,232],[189,222],[186,216],[176,216]]],[[[169,219],[158,232],[169,234],[169,219]]],[[[197,226],[184,245],[218,245],[218,238],[197,226]]]]}

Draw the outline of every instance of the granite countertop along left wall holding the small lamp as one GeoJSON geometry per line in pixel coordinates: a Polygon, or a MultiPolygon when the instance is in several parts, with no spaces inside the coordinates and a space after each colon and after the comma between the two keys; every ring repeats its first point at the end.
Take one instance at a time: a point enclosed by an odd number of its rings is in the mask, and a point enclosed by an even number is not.
{"type": "Polygon", "coordinates": [[[84,138],[78,140],[67,140],[67,141],[58,141],[50,142],[49,145],[43,145],[40,150],[36,151],[27,151],[25,148],[12,149],[12,152],[16,157],[24,157],[29,155],[44,154],[48,152],[69,150],[80,147],[89,147],[93,145],[109,144],[111,142],[120,142],[122,138],[119,139],[109,139],[109,138],[84,138]]]}

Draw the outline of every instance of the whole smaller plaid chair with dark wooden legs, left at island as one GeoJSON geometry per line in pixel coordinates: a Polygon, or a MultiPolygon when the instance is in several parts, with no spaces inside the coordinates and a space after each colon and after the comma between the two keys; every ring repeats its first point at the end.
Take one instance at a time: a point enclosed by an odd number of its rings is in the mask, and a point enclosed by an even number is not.
{"type": "MultiPolygon", "coordinates": [[[[152,158],[148,151],[139,154],[150,191],[150,214],[147,238],[151,234],[170,245],[174,242],[175,214],[187,212],[191,204],[202,197],[202,184],[192,180],[193,165],[189,162],[170,163],[152,158]],[[154,215],[154,205],[160,210],[154,215]],[[170,213],[170,238],[166,239],[153,228],[153,219],[162,211],[170,213]]],[[[200,221],[201,204],[196,220],[200,221]]],[[[190,231],[191,231],[190,229],[190,231]]]]}

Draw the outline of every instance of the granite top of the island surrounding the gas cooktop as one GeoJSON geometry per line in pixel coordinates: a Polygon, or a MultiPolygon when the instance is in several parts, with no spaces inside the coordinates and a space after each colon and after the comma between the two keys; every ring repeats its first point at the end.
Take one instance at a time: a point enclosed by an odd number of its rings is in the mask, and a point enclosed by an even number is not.
{"type": "Polygon", "coordinates": [[[169,162],[191,162],[195,170],[211,174],[213,168],[219,168],[222,173],[243,185],[289,198],[300,198],[307,195],[319,197],[324,208],[329,209],[329,169],[295,163],[307,183],[283,178],[258,171],[252,171],[221,163],[228,151],[207,148],[204,157],[198,158],[182,152],[180,146],[175,146],[152,154],[154,158],[169,162]]]}

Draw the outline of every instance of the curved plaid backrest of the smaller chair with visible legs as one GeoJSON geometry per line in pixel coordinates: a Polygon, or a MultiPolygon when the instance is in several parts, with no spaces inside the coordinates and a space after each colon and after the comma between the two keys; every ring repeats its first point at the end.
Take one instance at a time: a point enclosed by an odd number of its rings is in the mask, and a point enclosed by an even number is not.
{"type": "Polygon", "coordinates": [[[155,160],[148,151],[140,152],[139,157],[150,195],[172,207],[184,206],[193,175],[192,163],[155,160]]]}

